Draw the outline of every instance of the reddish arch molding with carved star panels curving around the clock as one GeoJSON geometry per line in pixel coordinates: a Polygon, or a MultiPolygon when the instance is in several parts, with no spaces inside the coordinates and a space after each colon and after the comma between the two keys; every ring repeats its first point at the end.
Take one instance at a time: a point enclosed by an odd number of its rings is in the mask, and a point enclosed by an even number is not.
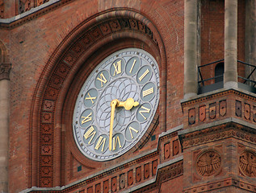
{"type": "MultiPolygon", "coordinates": [[[[162,69],[166,69],[166,53],[161,35],[148,18],[136,10],[107,10],[80,23],[66,35],[52,53],[33,96],[30,130],[29,186],[56,187],[61,182],[61,148],[63,148],[62,117],[65,96],[82,64],[101,47],[119,39],[140,41],[148,47],[162,69]],[[33,128],[33,129],[32,129],[33,128]],[[37,128],[37,129],[35,129],[37,128]]],[[[131,46],[132,44],[130,44],[131,46]]],[[[132,45],[135,46],[136,45],[132,45]]],[[[123,48],[124,43],[115,48],[123,48]]],[[[109,54],[111,50],[109,49],[109,54]]],[[[94,66],[88,65],[89,72],[94,66]]],[[[161,74],[162,128],[166,128],[166,70],[161,74]]]]}

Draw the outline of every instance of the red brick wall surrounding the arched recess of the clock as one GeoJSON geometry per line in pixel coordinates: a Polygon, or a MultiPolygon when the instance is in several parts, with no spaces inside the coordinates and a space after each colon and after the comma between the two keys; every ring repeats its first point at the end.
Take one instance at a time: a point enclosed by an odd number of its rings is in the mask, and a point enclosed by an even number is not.
{"type": "MultiPolygon", "coordinates": [[[[166,107],[159,109],[159,113],[167,112],[166,129],[183,122],[180,106],[180,100],[183,98],[182,1],[133,1],[127,5],[126,2],[120,1],[80,0],[71,1],[38,17],[34,14],[36,18],[30,21],[24,19],[22,24],[11,27],[8,31],[0,31],[2,42],[9,47],[10,63],[13,67],[10,72],[10,192],[19,192],[32,186],[40,187],[42,184],[39,179],[40,107],[43,105],[41,103],[44,89],[55,66],[48,61],[57,61],[58,55],[62,54],[58,47],[65,43],[65,39],[69,37],[67,35],[75,30],[75,27],[113,7],[132,9],[145,15],[161,35],[158,39],[161,39],[163,44],[158,46],[162,53],[165,53],[166,59],[162,61],[163,59],[157,58],[157,61],[166,63],[167,69],[162,69],[162,72],[166,72],[167,93],[163,92],[162,98],[166,97],[168,102],[166,107]],[[52,59],[52,56],[55,58],[52,59]]],[[[65,89],[68,88],[67,84],[63,86],[65,89]]],[[[60,100],[64,100],[65,92],[67,90],[63,91],[60,100]]],[[[57,109],[61,111],[61,108],[63,108],[61,104],[58,104],[57,109]]],[[[54,120],[53,128],[57,132],[61,131],[61,119],[54,120]]],[[[153,134],[158,136],[161,132],[162,127],[158,126],[153,134]]],[[[54,140],[56,157],[50,162],[50,166],[57,168],[54,171],[58,170],[53,173],[54,178],[51,183],[53,187],[85,177],[76,175],[77,179],[68,177],[61,179],[61,169],[65,170],[64,174],[69,175],[70,170],[66,168],[70,167],[71,159],[69,159],[70,152],[65,149],[62,153],[65,157],[60,158],[60,149],[65,147],[65,143],[59,142],[60,136],[61,134],[54,140]],[[63,162],[60,166],[61,160],[63,162]]],[[[149,140],[141,152],[156,147],[157,139],[153,142],[149,140]]]]}

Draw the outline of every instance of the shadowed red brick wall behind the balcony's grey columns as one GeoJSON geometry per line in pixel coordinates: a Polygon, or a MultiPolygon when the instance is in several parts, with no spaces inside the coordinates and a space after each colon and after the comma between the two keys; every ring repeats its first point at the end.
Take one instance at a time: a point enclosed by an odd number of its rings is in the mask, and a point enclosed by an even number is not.
{"type": "MultiPolygon", "coordinates": [[[[238,1],[237,60],[245,61],[245,2],[238,1]]],[[[203,0],[201,5],[201,65],[224,59],[225,1],[203,0]]],[[[214,77],[216,64],[201,68],[204,79],[214,77]]],[[[238,76],[245,76],[245,66],[237,64],[238,76]]],[[[208,81],[207,84],[213,83],[208,81]]]]}

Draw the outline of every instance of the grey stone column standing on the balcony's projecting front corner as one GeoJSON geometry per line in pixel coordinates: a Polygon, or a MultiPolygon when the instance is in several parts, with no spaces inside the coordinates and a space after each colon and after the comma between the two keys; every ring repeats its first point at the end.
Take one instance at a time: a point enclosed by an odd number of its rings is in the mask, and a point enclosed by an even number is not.
{"type": "Polygon", "coordinates": [[[224,87],[237,88],[237,0],[225,0],[224,87]]]}

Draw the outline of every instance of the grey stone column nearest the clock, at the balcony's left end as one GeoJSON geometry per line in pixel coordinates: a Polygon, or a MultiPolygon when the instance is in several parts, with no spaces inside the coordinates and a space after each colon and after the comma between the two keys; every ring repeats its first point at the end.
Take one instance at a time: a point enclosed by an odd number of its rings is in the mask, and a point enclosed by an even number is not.
{"type": "Polygon", "coordinates": [[[197,95],[197,0],[185,0],[184,98],[197,95]]]}

